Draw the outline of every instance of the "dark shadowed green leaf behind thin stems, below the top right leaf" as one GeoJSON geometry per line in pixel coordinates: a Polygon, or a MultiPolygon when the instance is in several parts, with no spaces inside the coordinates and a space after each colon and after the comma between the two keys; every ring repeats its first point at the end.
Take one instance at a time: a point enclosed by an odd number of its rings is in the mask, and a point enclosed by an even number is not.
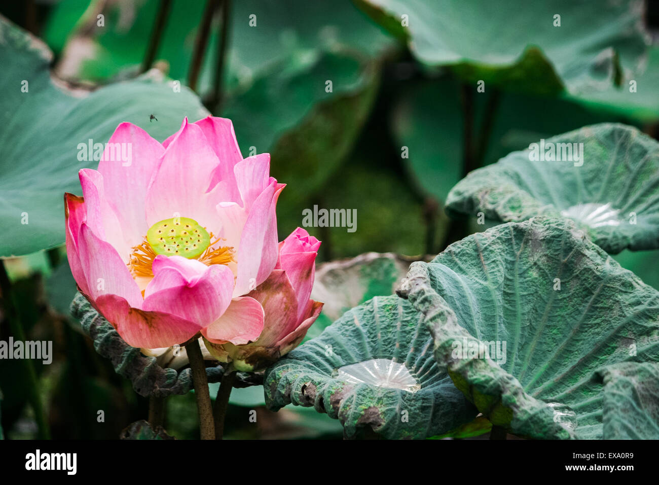
{"type": "MultiPolygon", "coordinates": [[[[482,126],[486,110],[491,109],[492,96],[497,94],[490,90],[474,94],[477,128],[482,126]]],[[[500,92],[498,96],[483,164],[496,162],[541,138],[612,120],[610,113],[593,113],[565,99],[519,92],[500,92]]],[[[440,201],[446,200],[451,187],[461,178],[462,119],[459,82],[449,76],[409,83],[392,111],[391,129],[397,145],[408,149],[403,163],[418,190],[440,201]]]]}

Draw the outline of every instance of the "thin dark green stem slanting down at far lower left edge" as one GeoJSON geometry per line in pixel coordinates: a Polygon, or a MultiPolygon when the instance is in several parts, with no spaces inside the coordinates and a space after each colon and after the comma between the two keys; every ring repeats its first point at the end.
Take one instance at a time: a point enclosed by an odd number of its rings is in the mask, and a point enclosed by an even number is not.
{"type": "MultiPolygon", "coordinates": [[[[11,287],[9,275],[7,275],[7,268],[5,267],[4,260],[0,261],[0,289],[2,290],[2,298],[3,304],[5,306],[6,318],[7,321],[9,321],[9,331],[14,335],[16,340],[25,342],[25,333],[23,331],[23,325],[20,321],[18,304],[16,303],[16,297],[14,296],[11,287]]],[[[30,401],[30,406],[32,406],[32,410],[34,411],[34,419],[36,420],[38,428],[38,438],[50,439],[48,420],[46,419],[45,413],[43,412],[41,396],[39,395],[39,381],[37,379],[34,366],[32,365],[32,360],[21,359],[21,362],[24,366],[24,371],[28,378],[28,400],[30,401]]]]}

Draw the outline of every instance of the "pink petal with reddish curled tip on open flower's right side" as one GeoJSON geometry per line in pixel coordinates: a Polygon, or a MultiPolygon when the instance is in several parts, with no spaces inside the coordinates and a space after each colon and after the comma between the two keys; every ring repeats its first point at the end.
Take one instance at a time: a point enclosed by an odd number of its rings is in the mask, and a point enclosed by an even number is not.
{"type": "Polygon", "coordinates": [[[256,198],[238,247],[238,275],[233,296],[247,294],[264,282],[277,264],[277,214],[275,208],[282,183],[270,178],[270,185],[256,198]]]}

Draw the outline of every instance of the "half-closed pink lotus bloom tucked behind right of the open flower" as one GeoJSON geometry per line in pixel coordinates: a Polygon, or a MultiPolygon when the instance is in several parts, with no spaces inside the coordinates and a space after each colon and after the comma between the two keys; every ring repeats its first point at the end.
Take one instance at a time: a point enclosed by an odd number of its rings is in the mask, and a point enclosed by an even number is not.
{"type": "Polygon", "coordinates": [[[274,271],[247,296],[260,302],[266,312],[263,333],[256,342],[241,345],[223,342],[208,331],[204,334],[206,347],[217,360],[255,372],[300,344],[323,306],[309,298],[319,247],[320,241],[301,228],[279,243],[274,271]]]}

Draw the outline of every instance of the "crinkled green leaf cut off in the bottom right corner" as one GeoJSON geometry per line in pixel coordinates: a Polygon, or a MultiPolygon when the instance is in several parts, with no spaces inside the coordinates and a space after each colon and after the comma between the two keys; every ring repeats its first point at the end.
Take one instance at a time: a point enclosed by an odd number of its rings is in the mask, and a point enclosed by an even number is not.
{"type": "Polygon", "coordinates": [[[623,362],[598,371],[604,439],[659,439],[659,364],[623,362]]]}

